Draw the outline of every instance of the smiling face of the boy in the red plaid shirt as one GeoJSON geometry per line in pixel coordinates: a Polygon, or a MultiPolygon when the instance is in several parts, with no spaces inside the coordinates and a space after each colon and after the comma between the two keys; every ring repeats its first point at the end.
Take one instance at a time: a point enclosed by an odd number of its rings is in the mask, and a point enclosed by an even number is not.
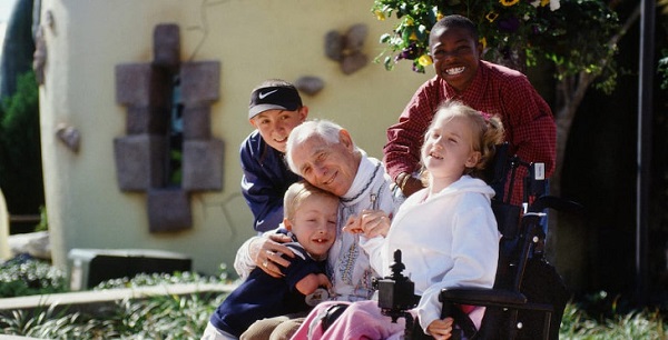
{"type": "Polygon", "coordinates": [[[478,72],[482,46],[463,28],[439,28],[430,36],[434,70],[458,92],[466,90],[478,72]]]}

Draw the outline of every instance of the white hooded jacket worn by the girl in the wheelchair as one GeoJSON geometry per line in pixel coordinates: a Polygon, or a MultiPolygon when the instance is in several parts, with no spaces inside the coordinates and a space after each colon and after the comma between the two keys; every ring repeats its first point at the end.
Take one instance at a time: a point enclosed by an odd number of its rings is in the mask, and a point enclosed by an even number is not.
{"type": "Polygon", "coordinates": [[[494,191],[463,176],[438,194],[415,192],[400,207],[386,238],[362,238],[372,267],[391,274],[394,250],[401,249],[404,274],[422,296],[416,308],[423,329],[440,318],[443,288],[494,284],[500,233],[491,208],[494,191]]]}

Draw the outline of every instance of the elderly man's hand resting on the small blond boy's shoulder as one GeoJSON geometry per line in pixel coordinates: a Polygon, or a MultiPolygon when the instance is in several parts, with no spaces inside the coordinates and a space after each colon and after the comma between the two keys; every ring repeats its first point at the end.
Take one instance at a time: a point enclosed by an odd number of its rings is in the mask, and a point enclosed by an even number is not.
{"type": "Polygon", "coordinates": [[[289,261],[282,254],[294,258],[292,250],[282,243],[289,242],[291,238],[285,234],[275,233],[268,238],[258,238],[250,242],[249,251],[255,264],[274,278],[283,277],[281,268],[289,266],[289,261]]]}

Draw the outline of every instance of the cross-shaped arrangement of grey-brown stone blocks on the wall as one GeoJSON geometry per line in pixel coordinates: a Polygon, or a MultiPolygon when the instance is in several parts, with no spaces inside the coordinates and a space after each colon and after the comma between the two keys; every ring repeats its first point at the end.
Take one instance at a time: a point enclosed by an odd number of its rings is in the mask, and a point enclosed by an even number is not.
{"type": "Polygon", "coordinates": [[[120,190],[147,193],[149,230],[193,227],[190,193],[223,189],[223,141],[212,138],[220,62],[180,61],[177,24],[154,30],[150,63],[116,66],[116,101],[127,107],[114,140],[120,190]]]}

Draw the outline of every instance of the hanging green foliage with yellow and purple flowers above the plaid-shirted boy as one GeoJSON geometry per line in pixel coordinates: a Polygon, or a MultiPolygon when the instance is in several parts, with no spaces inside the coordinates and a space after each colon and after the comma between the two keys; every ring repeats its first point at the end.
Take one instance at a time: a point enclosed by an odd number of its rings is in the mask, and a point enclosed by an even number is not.
{"type": "Polygon", "coordinates": [[[379,20],[399,19],[381,37],[386,49],[376,59],[389,70],[410,60],[414,71],[424,72],[432,62],[431,27],[444,16],[461,14],[478,24],[485,60],[519,70],[547,60],[557,66],[558,78],[586,71],[602,76],[605,90],[615,87],[615,66],[600,62],[616,52],[608,41],[619,22],[600,0],[375,0],[372,11],[379,20]]]}

